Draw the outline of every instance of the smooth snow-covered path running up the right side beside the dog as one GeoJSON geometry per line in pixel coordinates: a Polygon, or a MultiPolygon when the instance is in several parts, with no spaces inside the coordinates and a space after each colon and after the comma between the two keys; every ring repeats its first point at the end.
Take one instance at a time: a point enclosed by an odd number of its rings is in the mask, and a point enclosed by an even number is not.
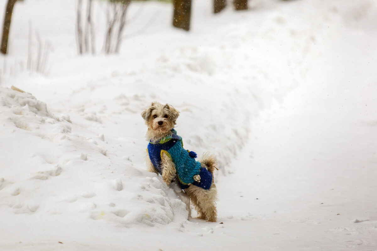
{"type": "Polygon", "coordinates": [[[224,227],[254,250],[377,249],[376,54],[357,37],[352,57],[356,38],[342,35],[318,48],[323,67],[254,121],[234,173],[220,178],[220,211],[234,218],[224,227]]]}

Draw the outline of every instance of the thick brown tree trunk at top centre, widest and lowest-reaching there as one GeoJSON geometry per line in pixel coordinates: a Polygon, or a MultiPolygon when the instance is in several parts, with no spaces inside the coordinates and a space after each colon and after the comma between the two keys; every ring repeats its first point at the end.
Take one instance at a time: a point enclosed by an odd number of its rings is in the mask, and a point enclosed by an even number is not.
{"type": "Polygon", "coordinates": [[[174,0],[173,26],[190,30],[191,0],[174,0]]]}

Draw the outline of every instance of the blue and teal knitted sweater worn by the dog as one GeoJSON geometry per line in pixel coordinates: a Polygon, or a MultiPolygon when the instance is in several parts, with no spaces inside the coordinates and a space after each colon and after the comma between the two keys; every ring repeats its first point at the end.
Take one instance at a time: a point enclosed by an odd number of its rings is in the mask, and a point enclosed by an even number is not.
{"type": "Polygon", "coordinates": [[[202,167],[199,161],[196,161],[195,152],[187,151],[183,148],[183,141],[177,135],[175,129],[172,129],[172,135],[162,138],[157,143],[149,142],[148,154],[150,161],[155,169],[162,174],[161,159],[165,153],[175,164],[176,174],[181,189],[186,189],[189,184],[210,189],[212,184],[212,173],[202,167]],[[194,180],[194,175],[200,175],[201,180],[194,180]]]}

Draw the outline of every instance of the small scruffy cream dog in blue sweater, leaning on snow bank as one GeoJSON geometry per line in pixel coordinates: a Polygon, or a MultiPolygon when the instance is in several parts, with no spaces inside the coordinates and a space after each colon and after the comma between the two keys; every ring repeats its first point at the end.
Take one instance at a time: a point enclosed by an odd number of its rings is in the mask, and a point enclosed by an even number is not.
{"type": "Polygon", "coordinates": [[[198,218],[215,222],[217,189],[213,171],[218,170],[215,155],[207,153],[200,161],[195,161],[196,153],[183,148],[182,138],[174,129],[179,111],[173,106],[152,102],[141,116],[148,126],[148,170],[160,174],[167,185],[172,181],[179,184],[192,200],[198,218]]]}

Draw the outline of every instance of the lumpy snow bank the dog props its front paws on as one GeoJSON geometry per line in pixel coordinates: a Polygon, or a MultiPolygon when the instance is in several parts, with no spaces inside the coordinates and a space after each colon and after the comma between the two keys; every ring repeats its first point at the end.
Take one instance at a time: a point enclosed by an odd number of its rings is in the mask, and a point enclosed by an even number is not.
{"type": "Polygon", "coordinates": [[[167,224],[174,211],[187,217],[158,178],[135,169],[129,157],[107,156],[104,135],[55,117],[30,93],[2,87],[0,113],[0,207],[9,221],[15,214],[61,215],[129,226],[167,224]]]}

